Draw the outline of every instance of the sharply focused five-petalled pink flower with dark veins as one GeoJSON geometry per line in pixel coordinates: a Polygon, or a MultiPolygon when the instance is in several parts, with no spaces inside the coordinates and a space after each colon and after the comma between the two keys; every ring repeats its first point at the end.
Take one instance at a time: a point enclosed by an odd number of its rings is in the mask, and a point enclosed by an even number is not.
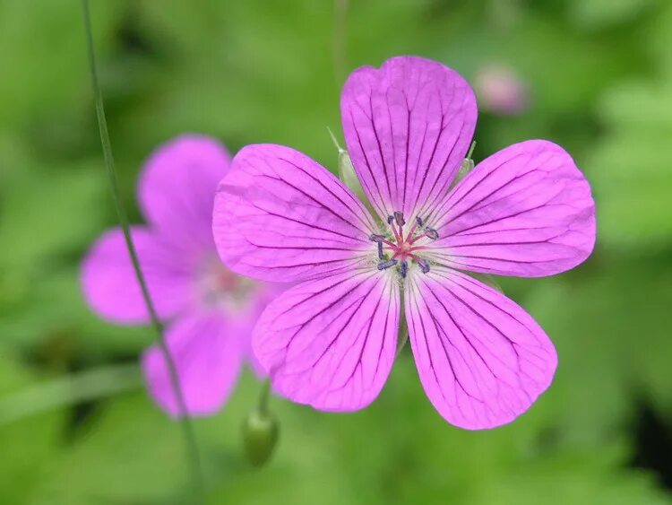
{"type": "Polygon", "coordinates": [[[256,358],[289,399],[358,410],[390,374],[403,301],[439,414],[473,430],[513,421],[551,383],[556,351],[521,307],[464,271],[540,277],[582,263],[595,242],[588,182],[561,147],[533,140],[495,153],[449,190],[476,100],[433,61],[359,68],[340,109],[373,215],[329,171],[280,145],[247,146],[218,188],[214,235],[225,264],[298,282],[257,322],[256,358]]]}

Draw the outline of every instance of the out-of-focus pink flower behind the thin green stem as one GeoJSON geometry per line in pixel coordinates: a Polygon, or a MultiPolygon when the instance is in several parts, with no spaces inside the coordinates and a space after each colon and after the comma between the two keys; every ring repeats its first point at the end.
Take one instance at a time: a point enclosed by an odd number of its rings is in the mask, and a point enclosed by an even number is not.
{"type": "MultiPolygon", "coordinates": [[[[185,135],[160,147],[143,169],[142,213],[149,223],[132,236],[166,338],[189,414],[212,414],[233,389],[249,353],[250,332],[271,292],[267,284],[233,274],[221,265],[212,239],[212,202],[229,156],[215,140],[185,135]]],[[[93,245],[82,265],[90,307],[119,324],[150,318],[120,229],[93,245]]],[[[179,408],[157,346],[142,358],[158,405],[173,416],[179,408]]]]}

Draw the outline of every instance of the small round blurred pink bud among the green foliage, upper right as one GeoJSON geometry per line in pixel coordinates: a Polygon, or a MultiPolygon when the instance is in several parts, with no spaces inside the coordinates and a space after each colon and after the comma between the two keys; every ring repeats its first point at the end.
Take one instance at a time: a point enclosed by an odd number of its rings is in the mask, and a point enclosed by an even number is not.
{"type": "Polygon", "coordinates": [[[527,84],[512,68],[505,65],[483,65],[476,74],[476,95],[482,109],[494,114],[513,116],[530,105],[527,84]]]}

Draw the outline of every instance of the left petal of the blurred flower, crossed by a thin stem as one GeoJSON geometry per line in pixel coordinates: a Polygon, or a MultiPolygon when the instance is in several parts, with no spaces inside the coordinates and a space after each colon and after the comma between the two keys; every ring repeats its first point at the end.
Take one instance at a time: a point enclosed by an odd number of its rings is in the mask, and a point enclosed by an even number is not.
{"type": "MultiPolygon", "coordinates": [[[[192,289],[185,259],[146,228],[133,227],[131,235],[159,318],[185,309],[192,289]]],[[[121,324],[149,321],[124,235],[118,228],[104,233],[84,258],[82,289],[90,307],[103,318],[121,324]]]]}

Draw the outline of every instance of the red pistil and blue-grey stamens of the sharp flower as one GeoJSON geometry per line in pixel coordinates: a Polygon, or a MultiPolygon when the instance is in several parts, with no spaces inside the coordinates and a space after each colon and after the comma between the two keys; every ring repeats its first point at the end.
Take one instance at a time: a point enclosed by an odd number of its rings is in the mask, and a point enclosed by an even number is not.
{"type": "Polygon", "coordinates": [[[423,274],[429,272],[429,262],[423,257],[421,251],[428,249],[426,239],[435,240],[439,234],[434,228],[424,225],[420,217],[415,219],[412,225],[405,231],[406,220],[404,214],[397,211],[387,218],[389,226],[386,235],[374,234],[369,237],[378,245],[378,270],[385,270],[399,265],[401,277],[406,277],[409,272],[409,262],[418,265],[423,274]]]}

